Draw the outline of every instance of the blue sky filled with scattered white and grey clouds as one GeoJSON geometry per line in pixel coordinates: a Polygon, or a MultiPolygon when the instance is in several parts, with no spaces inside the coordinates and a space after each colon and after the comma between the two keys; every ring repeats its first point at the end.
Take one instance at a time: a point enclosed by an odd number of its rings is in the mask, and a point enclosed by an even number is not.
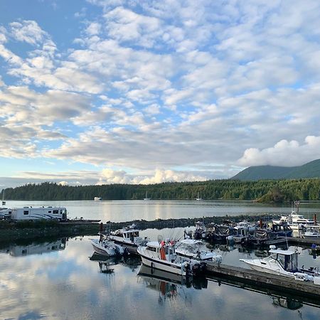
{"type": "Polygon", "coordinates": [[[320,158],[318,0],[1,0],[0,189],[320,158]]]}

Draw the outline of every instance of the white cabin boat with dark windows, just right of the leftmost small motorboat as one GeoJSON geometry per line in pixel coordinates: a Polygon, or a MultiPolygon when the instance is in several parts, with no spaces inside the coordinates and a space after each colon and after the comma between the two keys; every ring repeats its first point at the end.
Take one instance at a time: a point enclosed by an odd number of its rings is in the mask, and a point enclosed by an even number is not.
{"type": "Polygon", "coordinates": [[[147,238],[142,239],[139,236],[137,226],[132,224],[126,228],[112,231],[109,239],[114,241],[117,245],[122,245],[127,248],[129,253],[137,254],[139,245],[146,245],[147,238]]]}

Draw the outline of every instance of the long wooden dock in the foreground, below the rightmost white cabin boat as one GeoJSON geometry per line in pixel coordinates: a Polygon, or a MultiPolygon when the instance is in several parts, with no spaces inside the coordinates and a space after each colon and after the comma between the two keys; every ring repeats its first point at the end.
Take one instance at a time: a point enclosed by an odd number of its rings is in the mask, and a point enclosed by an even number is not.
{"type": "Polygon", "coordinates": [[[217,265],[208,262],[206,275],[217,276],[220,278],[231,279],[237,282],[259,285],[265,289],[277,289],[287,294],[295,294],[309,299],[320,299],[320,286],[312,282],[303,282],[290,277],[284,277],[267,272],[258,272],[255,270],[230,265],[217,265]]]}

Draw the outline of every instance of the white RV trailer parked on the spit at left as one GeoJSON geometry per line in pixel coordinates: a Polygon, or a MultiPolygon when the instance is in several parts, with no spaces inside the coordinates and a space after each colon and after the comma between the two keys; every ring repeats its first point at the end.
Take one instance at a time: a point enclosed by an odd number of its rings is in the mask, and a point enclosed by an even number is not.
{"type": "Polygon", "coordinates": [[[67,220],[67,209],[64,207],[23,207],[13,208],[11,212],[12,220],[39,220],[55,219],[59,221],[67,220]]]}

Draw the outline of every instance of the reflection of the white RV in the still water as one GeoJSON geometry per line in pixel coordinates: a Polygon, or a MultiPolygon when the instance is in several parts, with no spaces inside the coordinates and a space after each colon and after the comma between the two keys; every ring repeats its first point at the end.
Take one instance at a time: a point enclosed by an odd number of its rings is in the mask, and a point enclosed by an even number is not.
{"type": "Polygon", "coordinates": [[[9,253],[13,257],[21,257],[23,255],[42,255],[43,253],[65,250],[66,238],[62,238],[52,242],[36,243],[30,245],[10,245],[2,252],[9,253]]]}

